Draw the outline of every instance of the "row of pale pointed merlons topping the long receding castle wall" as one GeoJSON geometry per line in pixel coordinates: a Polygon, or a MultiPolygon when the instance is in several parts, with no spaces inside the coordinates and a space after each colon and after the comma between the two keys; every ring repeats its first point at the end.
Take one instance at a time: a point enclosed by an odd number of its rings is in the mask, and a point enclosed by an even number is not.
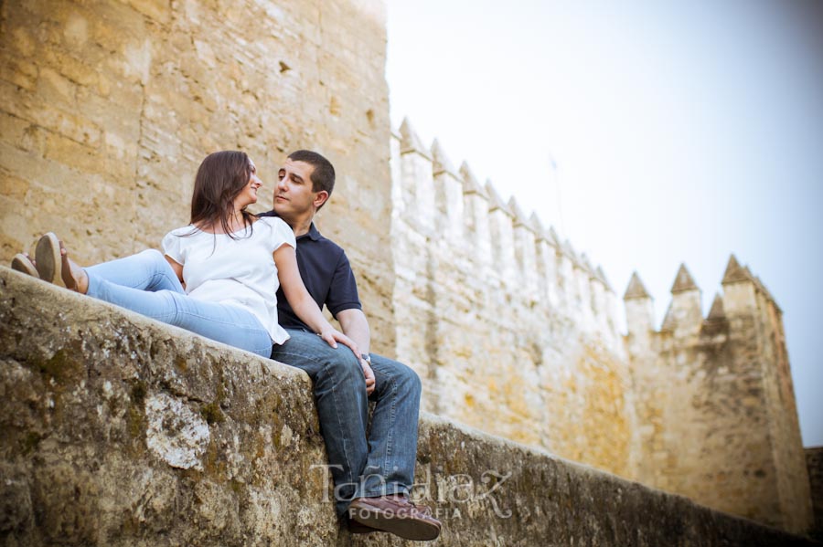
{"type": "Polygon", "coordinates": [[[442,145],[435,139],[427,148],[408,119],[393,141],[398,223],[440,240],[452,256],[491,276],[493,286],[523,292],[610,344],[620,340],[617,299],[603,268],[593,268],[568,240],[560,244],[554,227],[547,231],[538,216],[527,216],[515,197],[505,200],[490,180],[480,184],[465,161],[455,170],[442,145]]]}

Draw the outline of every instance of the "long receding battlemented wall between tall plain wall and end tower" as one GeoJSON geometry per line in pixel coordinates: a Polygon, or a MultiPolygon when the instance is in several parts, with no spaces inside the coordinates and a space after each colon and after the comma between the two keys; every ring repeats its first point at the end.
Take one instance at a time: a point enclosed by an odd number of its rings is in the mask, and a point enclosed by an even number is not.
{"type": "Polygon", "coordinates": [[[629,476],[614,292],[408,123],[392,165],[398,357],[425,379],[423,407],[629,476]]]}

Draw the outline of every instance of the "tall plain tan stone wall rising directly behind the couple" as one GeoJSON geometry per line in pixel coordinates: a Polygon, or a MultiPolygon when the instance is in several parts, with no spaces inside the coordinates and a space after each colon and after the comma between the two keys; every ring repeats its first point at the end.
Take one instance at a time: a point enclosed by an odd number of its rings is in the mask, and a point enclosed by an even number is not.
{"type": "Polygon", "coordinates": [[[380,0],[0,4],[0,259],[54,230],[83,263],[188,221],[198,163],[248,152],[272,204],[285,153],[337,166],[318,220],[350,249],[393,352],[389,107],[380,0]]]}

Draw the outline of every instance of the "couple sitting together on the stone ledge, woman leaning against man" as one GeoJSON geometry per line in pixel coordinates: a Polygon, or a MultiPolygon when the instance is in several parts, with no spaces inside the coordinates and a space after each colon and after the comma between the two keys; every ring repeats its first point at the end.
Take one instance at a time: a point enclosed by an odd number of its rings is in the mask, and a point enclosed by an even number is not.
{"type": "Polygon", "coordinates": [[[12,267],[303,369],[314,385],[337,514],[353,532],[433,540],[440,522],[409,499],[420,379],[369,353],[346,254],[312,222],[332,193],[334,167],[298,151],[278,179],[273,211],[253,216],[246,208],[262,186],[254,163],[241,152],[212,153],[195,179],[191,224],[166,234],[163,254],[149,249],[80,268],[49,233],[35,261],[17,255],[12,267]],[[323,305],[343,332],[323,317],[323,305]],[[369,399],[376,405],[367,437],[369,399]]]}

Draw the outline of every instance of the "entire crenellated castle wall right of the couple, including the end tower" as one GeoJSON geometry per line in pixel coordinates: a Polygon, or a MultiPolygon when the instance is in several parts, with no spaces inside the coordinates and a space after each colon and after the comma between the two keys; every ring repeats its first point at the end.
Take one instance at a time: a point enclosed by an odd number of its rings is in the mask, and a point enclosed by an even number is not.
{"type": "Polygon", "coordinates": [[[781,312],[747,266],[729,259],[704,316],[681,264],[659,328],[635,273],[623,334],[603,268],[553,226],[408,120],[391,151],[397,354],[427,379],[425,409],[802,529],[781,312]]]}

